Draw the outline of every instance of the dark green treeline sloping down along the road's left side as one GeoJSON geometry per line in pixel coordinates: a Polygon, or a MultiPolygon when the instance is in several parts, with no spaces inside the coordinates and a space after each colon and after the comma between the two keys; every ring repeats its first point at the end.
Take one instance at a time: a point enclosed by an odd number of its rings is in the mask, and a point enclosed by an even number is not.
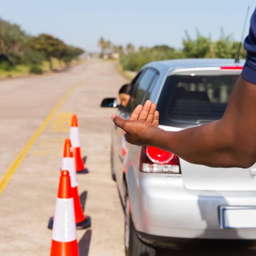
{"type": "Polygon", "coordinates": [[[41,65],[46,60],[53,70],[52,58],[65,65],[79,57],[84,50],[65,44],[48,34],[33,37],[20,26],[0,18],[0,69],[11,70],[17,65],[27,65],[31,73],[42,73],[41,65]]]}

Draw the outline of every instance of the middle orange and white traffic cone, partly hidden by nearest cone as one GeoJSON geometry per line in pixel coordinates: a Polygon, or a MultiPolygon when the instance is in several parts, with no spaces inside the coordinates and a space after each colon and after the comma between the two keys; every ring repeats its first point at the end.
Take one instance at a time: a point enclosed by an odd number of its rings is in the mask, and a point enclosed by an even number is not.
{"type": "MultiPolygon", "coordinates": [[[[73,153],[71,152],[71,142],[70,139],[65,139],[63,159],[62,159],[62,170],[68,170],[71,180],[71,190],[74,199],[74,211],[75,211],[75,221],[77,229],[89,228],[91,226],[90,216],[85,216],[80,203],[80,198],[78,194],[78,182],[76,180],[75,171],[75,159],[73,153]]],[[[52,228],[53,217],[50,218],[48,228],[52,228]]]]}

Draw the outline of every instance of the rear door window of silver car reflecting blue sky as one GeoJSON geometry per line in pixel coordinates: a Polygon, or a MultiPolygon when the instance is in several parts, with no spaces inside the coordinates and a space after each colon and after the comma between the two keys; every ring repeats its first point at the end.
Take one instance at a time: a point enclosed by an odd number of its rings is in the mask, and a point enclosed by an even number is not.
{"type": "Polygon", "coordinates": [[[132,98],[134,98],[134,100],[131,101],[131,111],[133,111],[137,105],[143,102],[146,92],[148,91],[149,86],[152,84],[156,74],[157,71],[155,69],[147,68],[142,73],[141,78],[136,81],[135,88],[132,93],[132,98]]]}

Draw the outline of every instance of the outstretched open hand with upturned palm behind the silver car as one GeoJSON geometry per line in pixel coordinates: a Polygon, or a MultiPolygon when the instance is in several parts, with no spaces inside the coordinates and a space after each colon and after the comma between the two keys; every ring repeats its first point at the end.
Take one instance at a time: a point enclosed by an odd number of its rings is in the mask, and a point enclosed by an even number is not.
{"type": "Polygon", "coordinates": [[[159,125],[159,112],[156,104],[147,100],[144,104],[138,105],[132,112],[129,120],[112,115],[112,121],[116,126],[126,132],[126,140],[138,146],[152,145],[156,133],[161,131],[159,125]]]}

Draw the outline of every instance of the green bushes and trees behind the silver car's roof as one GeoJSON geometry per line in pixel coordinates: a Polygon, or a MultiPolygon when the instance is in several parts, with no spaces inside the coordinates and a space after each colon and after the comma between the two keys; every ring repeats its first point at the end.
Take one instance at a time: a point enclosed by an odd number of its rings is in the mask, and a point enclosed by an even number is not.
{"type": "MultiPolygon", "coordinates": [[[[103,38],[99,41],[99,46],[104,45],[103,38]]],[[[239,42],[234,41],[232,36],[225,36],[221,30],[221,35],[217,41],[212,41],[210,37],[203,36],[199,31],[196,38],[190,37],[185,31],[182,40],[182,49],[175,49],[166,45],[154,47],[139,47],[135,50],[132,44],[126,47],[114,46],[110,43],[107,48],[102,48],[102,52],[113,52],[119,54],[119,62],[124,70],[138,71],[143,65],[154,60],[180,59],[180,58],[234,58],[238,53],[239,42]],[[112,47],[111,47],[112,45],[112,47]]],[[[242,47],[240,58],[245,58],[246,52],[242,47]]]]}

